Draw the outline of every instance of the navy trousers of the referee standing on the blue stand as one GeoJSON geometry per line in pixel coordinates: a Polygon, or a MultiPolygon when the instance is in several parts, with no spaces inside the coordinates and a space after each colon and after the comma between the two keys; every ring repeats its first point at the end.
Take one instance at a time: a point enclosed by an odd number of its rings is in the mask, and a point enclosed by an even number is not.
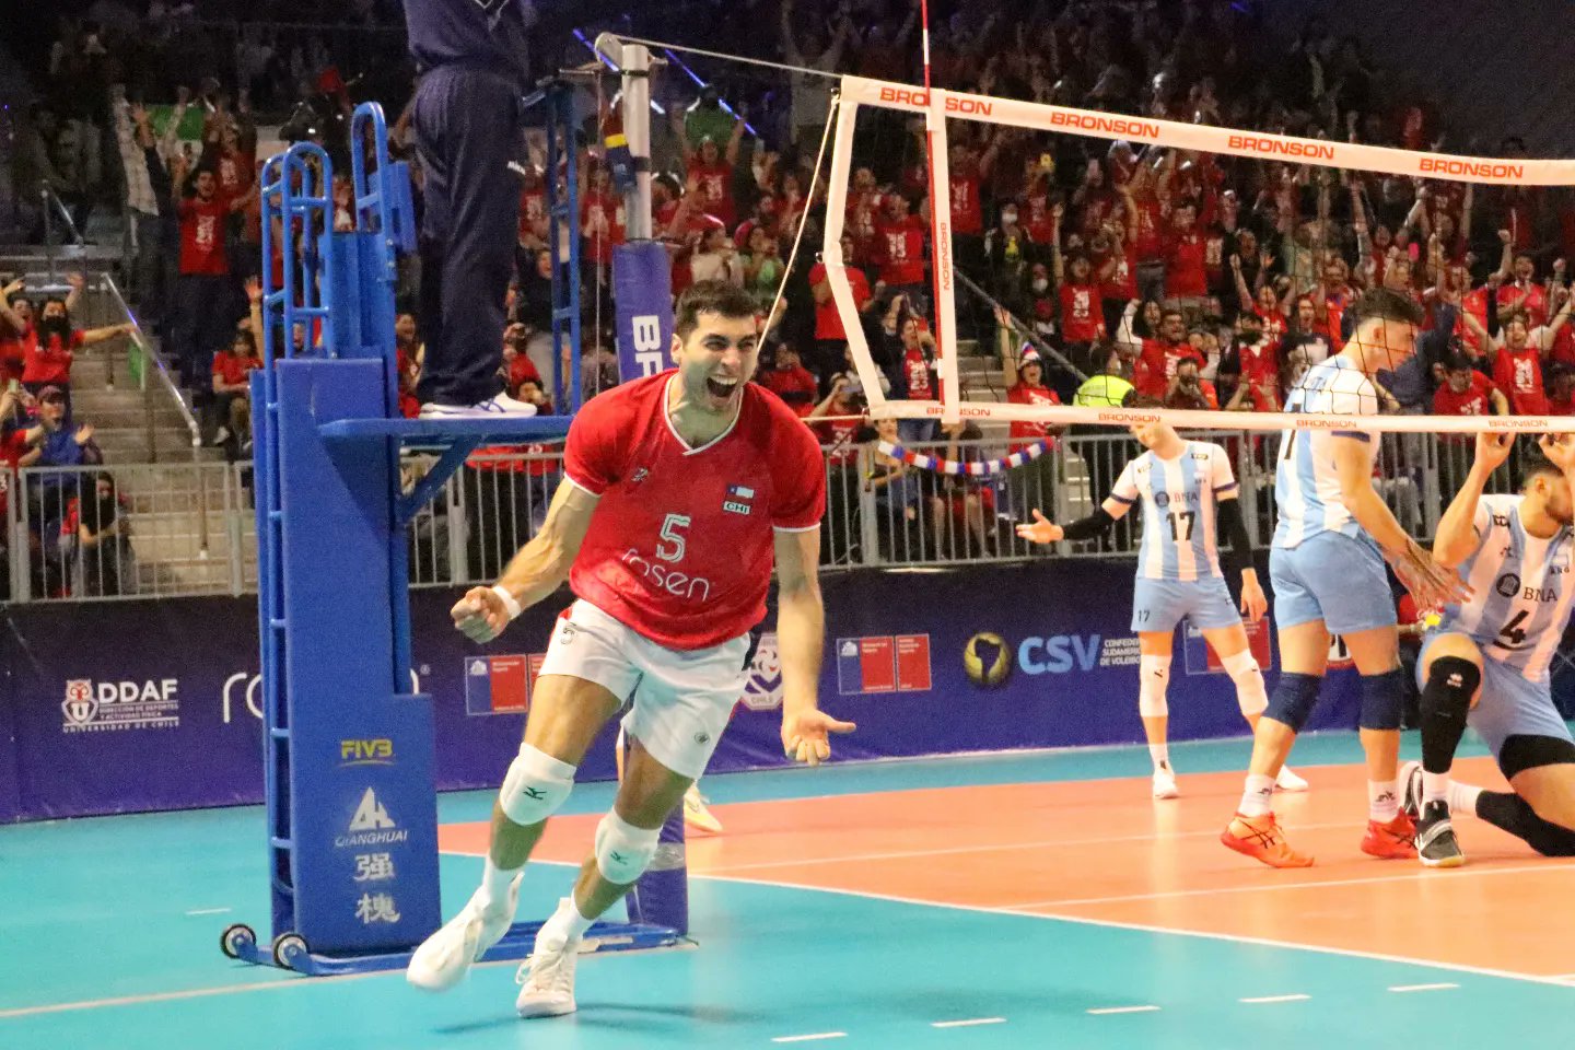
{"type": "Polygon", "coordinates": [[[421,227],[417,397],[476,405],[502,389],[504,301],[520,225],[520,87],[495,72],[439,66],[416,91],[413,128],[425,173],[421,227]]]}

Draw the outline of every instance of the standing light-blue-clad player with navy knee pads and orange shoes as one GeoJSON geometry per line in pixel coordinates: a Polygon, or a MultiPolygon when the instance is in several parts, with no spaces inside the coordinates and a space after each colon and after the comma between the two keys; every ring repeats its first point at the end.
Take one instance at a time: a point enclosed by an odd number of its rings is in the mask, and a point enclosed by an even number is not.
{"type": "MultiPolygon", "coordinates": [[[[1348,312],[1350,342],[1314,365],[1287,398],[1307,416],[1375,416],[1372,378],[1416,353],[1422,310],[1388,288],[1362,293],[1348,312]]],[[[1252,763],[1236,815],[1221,842],[1271,867],[1306,867],[1277,822],[1271,797],[1296,734],[1318,702],[1329,660],[1329,634],[1345,639],[1362,675],[1361,738],[1367,752],[1367,831],[1361,849],[1381,858],[1416,856],[1414,828],[1400,812],[1395,767],[1405,683],[1394,600],[1384,559],[1421,608],[1460,590],[1413,542],[1373,490],[1375,434],[1362,430],[1287,430],[1280,438],[1274,504],[1279,527],[1269,551],[1280,677],[1254,732],[1252,763]]]]}

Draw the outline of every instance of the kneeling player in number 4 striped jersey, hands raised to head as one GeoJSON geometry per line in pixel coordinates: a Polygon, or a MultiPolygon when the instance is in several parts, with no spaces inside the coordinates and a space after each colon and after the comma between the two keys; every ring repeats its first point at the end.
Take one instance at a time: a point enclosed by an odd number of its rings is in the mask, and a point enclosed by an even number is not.
{"type": "Polygon", "coordinates": [[[1433,556],[1460,567],[1473,597],[1444,608],[1416,663],[1422,760],[1406,763],[1405,801],[1429,867],[1465,863],[1452,809],[1474,812],[1548,856],[1575,856],[1575,743],[1548,685],[1575,598],[1575,441],[1539,444],[1547,461],[1526,468],[1520,496],[1484,496],[1514,438],[1479,434],[1471,472],[1438,521],[1433,556]],[[1512,792],[1451,782],[1468,724],[1512,792]]]}

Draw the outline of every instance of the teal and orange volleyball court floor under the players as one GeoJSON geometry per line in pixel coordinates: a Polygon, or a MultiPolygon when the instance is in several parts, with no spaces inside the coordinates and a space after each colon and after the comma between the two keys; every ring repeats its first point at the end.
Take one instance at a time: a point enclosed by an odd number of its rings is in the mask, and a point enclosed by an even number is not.
{"type": "MultiPolygon", "coordinates": [[[[219,932],[228,922],[246,921],[266,935],[257,808],[8,826],[0,830],[0,1048],[1561,1045],[1556,1033],[1567,1030],[1575,1007],[1575,987],[1564,982],[1575,979],[1575,943],[1559,945],[1569,956],[1537,956],[1537,965],[1523,968],[1501,963],[1518,957],[1514,945],[1498,956],[1484,949],[1482,959],[1499,963],[1477,965],[1476,956],[1462,962],[1414,949],[1406,930],[1447,930],[1460,921],[1476,930],[1471,937],[1499,927],[1514,938],[1539,930],[1558,937],[1558,922],[1567,919],[1544,908],[1570,911],[1575,867],[1531,858],[1507,837],[1488,839],[1477,823],[1466,826],[1468,847],[1474,841],[1487,850],[1480,863],[1473,855],[1458,872],[1468,880],[1455,883],[1436,878],[1447,872],[1343,855],[1329,855],[1326,882],[1292,883],[1282,878],[1288,872],[1258,869],[1217,845],[1200,852],[1240,792],[1235,771],[1246,746],[1235,740],[1173,748],[1188,790],[1175,803],[1147,798],[1140,748],[707,778],[729,831],[691,842],[698,948],[586,957],[580,1012],[540,1022],[513,1014],[512,963],[479,967],[457,990],[427,996],[400,973],[309,979],[222,957],[219,932]],[[1090,814],[1071,804],[986,814],[970,811],[973,795],[965,793],[1019,790],[1077,790],[1076,798],[1136,814],[1139,830],[1151,834],[1120,828],[1098,845],[1085,834],[1090,814]],[[953,806],[962,825],[937,815],[948,798],[964,800],[953,806]],[[838,861],[824,847],[846,828],[784,815],[835,806],[850,808],[838,809],[838,820],[876,806],[869,812],[904,823],[904,841],[918,845],[865,849],[838,861]],[[1058,815],[1082,828],[1082,837],[1055,845],[1047,833],[1058,815]],[[970,826],[986,825],[997,837],[999,828],[1016,828],[1019,841],[973,842],[970,826]],[[1139,837],[1148,853],[1131,852],[1128,841],[1139,837]],[[739,845],[750,839],[756,844],[739,845]],[[1043,849],[1033,845],[1041,839],[1043,849]],[[1178,852],[1167,852],[1167,842],[1180,844],[1178,852]],[[1191,856],[1203,858],[1191,866],[1208,872],[1166,869],[1191,856]],[[795,874],[805,858],[821,875],[795,874]],[[1117,878],[1117,893],[1054,899],[1062,883],[1082,886],[1101,861],[1110,871],[1096,874],[1117,878]],[[936,889],[934,880],[925,882],[940,874],[954,885],[936,889]],[[1184,883],[1205,875],[1213,882],[1203,889],[1184,883]],[[1150,882],[1129,893],[1120,883],[1126,877],[1150,882]],[[841,885],[847,882],[869,888],[841,885]],[[1469,886],[1474,911],[1462,913],[1458,904],[1441,910],[1432,891],[1446,885],[1469,886]],[[970,896],[975,886],[1003,888],[995,899],[1006,904],[970,902],[981,899],[970,896]],[[1359,907],[1351,904],[1358,896],[1359,907]],[[1197,910],[1232,899],[1247,934],[1211,929],[1214,919],[1197,910]],[[1035,902],[1049,911],[1035,910],[1035,902]],[[1139,913],[1143,921],[1101,918],[1107,913],[1099,908],[1110,907],[1151,911],[1139,913]],[[1265,924],[1279,913],[1328,935],[1307,943],[1252,935],[1269,930],[1265,924]],[[1372,948],[1340,946],[1347,924],[1361,927],[1353,937],[1372,948]],[[1564,959],[1572,960],[1564,967],[1570,974],[1547,971],[1564,959]]],[[[1414,746],[1408,741],[1410,752],[1414,746]]],[[[1347,734],[1310,737],[1296,752],[1312,795],[1320,784],[1359,776],[1351,767],[1358,756],[1347,734]]],[[[1345,789],[1328,790],[1339,792],[1345,789]]],[[[581,786],[565,812],[600,814],[610,795],[610,786],[581,786]]],[[[1351,809],[1350,798],[1340,801],[1351,809]]],[[[487,792],[449,795],[441,817],[446,825],[474,825],[490,804],[487,792]]],[[[1350,845],[1348,828],[1334,837],[1320,831],[1320,814],[1296,812],[1295,804],[1287,814],[1292,828],[1299,822],[1318,842],[1320,869],[1309,871],[1325,869],[1323,836],[1331,836],[1331,850],[1350,845]]],[[[575,831],[592,819],[562,823],[575,831]]],[[[879,837],[858,834],[865,842],[879,837]]],[[[570,849],[584,849],[584,841],[558,849],[559,856],[570,858],[570,849]]],[[[476,856],[444,856],[446,915],[469,896],[479,867],[476,856]]],[[[561,860],[532,869],[521,918],[545,915],[570,880],[561,860]]],[[[1525,945],[1529,959],[1532,945],[1525,945]]]]}

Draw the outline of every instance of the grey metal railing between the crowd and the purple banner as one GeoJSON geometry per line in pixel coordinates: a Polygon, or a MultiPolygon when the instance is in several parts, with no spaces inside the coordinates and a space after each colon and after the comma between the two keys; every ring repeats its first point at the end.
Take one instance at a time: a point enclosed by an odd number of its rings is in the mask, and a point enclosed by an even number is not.
{"type": "MultiPolygon", "coordinates": [[[[1227,449],[1241,482],[1254,546],[1273,538],[1274,436],[1199,434],[1227,449]]],[[[948,455],[939,442],[914,452],[948,455]]],[[[958,442],[961,460],[1005,455],[1000,439],[958,442]]],[[[1109,494],[1139,446],[1125,434],[1069,433],[1038,460],[991,477],[943,477],[906,466],[874,442],[828,450],[825,571],[868,567],[945,567],[1030,557],[1126,557],[1142,542],[1142,515],[1126,515],[1098,540],[1054,548],[1013,531],[1033,508],[1055,521],[1085,516],[1109,494]]],[[[1473,449],[1429,434],[1386,434],[1380,493],[1418,538],[1438,526],[1441,501],[1469,468],[1473,449]]],[[[408,455],[406,486],[432,464],[408,455]]],[[[1517,461],[1495,474],[1490,493],[1514,491],[1517,461]]],[[[444,485],[410,531],[413,587],[495,579],[540,527],[562,479],[550,449],[487,452],[444,485]]],[[[257,587],[257,538],[249,463],[156,463],[79,468],[0,468],[0,527],[14,601],[247,593],[257,587]],[[102,488],[101,488],[102,486],[102,488]],[[115,507],[101,507],[112,490],[115,507]],[[90,505],[91,504],[91,505],[90,505]],[[113,543],[90,540],[118,521],[113,543]],[[214,524],[217,523],[217,524],[214,524]],[[85,529],[85,532],[83,532],[85,529]]],[[[5,590],[0,589],[0,597],[5,590]]]]}

